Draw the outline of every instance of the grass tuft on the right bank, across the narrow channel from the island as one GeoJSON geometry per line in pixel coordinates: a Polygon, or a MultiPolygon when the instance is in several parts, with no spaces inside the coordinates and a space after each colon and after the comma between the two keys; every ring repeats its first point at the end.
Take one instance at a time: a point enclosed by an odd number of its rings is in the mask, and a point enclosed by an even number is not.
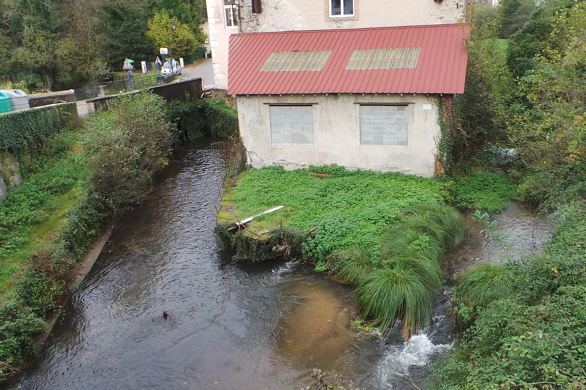
{"type": "Polygon", "coordinates": [[[473,305],[485,306],[507,295],[512,286],[507,275],[512,275],[507,264],[479,263],[459,278],[458,292],[473,305]]]}

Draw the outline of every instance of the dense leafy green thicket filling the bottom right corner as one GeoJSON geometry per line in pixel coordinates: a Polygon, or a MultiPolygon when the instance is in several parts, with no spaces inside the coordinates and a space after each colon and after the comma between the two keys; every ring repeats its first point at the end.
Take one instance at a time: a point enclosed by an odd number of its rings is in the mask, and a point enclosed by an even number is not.
{"type": "Polygon", "coordinates": [[[543,253],[484,272],[485,287],[498,294],[475,302],[461,291],[456,312],[473,312],[475,320],[464,321],[469,329],[459,347],[437,365],[436,389],[584,388],[585,206],[559,210],[557,232],[543,253]]]}

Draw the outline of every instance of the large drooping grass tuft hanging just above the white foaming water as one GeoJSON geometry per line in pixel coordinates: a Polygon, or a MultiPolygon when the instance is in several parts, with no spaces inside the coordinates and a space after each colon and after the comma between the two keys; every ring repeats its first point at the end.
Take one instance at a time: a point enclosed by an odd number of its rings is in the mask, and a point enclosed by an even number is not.
{"type": "Polygon", "coordinates": [[[374,317],[374,325],[382,330],[401,320],[404,339],[428,323],[433,296],[421,275],[404,267],[373,271],[356,289],[364,315],[374,317]]]}

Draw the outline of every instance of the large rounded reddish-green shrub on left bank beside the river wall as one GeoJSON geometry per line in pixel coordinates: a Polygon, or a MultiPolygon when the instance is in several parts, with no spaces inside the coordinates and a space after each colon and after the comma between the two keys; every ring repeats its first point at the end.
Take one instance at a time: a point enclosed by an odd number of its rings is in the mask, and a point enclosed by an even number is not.
{"type": "Polygon", "coordinates": [[[113,208],[142,201],[152,174],[169,163],[177,137],[164,102],[149,92],[123,95],[86,125],[82,143],[90,180],[113,208]]]}

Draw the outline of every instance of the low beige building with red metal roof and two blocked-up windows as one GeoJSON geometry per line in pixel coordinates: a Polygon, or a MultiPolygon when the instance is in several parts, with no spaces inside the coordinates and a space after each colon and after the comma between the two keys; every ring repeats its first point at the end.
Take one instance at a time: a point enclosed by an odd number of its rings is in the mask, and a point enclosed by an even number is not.
{"type": "Polygon", "coordinates": [[[463,24],[233,34],[228,94],[248,162],[434,175],[438,101],[464,92],[468,36],[463,24]]]}

